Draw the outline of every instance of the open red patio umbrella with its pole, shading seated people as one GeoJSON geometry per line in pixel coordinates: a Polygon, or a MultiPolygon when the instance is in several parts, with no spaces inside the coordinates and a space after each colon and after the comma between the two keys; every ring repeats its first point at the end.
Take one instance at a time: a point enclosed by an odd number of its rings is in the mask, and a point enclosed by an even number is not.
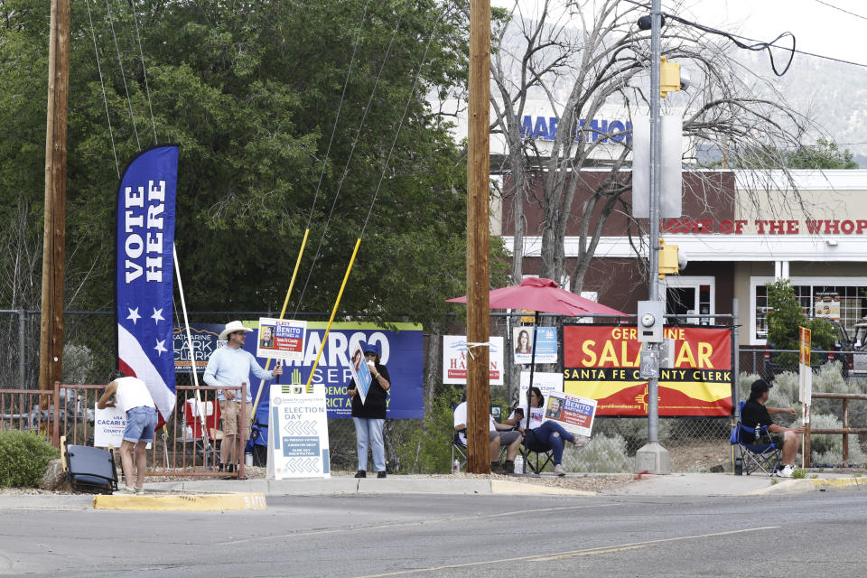
{"type": "MultiPolygon", "coordinates": [[[[446,299],[448,303],[467,303],[467,297],[446,299]]],[[[629,317],[629,313],[611,309],[601,303],[585,299],[560,288],[551,279],[545,277],[527,277],[519,285],[494,289],[489,293],[490,309],[526,309],[536,312],[533,320],[533,349],[530,358],[530,387],[533,387],[533,374],[536,368],[536,326],[539,324],[539,312],[560,313],[570,317],[583,315],[611,315],[612,317],[629,317]]],[[[527,389],[527,407],[530,406],[530,390],[527,389]]],[[[527,425],[530,426],[530,412],[527,411],[527,425]]],[[[526,467],[526,465],[525,465],[526,467]]]]}

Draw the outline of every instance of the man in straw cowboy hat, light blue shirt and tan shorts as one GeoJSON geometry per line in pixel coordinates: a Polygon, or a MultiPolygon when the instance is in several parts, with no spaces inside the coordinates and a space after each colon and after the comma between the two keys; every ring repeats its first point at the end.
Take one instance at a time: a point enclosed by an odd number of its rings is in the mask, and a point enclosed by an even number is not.
{"type": "Polygon", "coordinates": [[[247,333],[253,331],[244,327],[241,322],[228,322],[226,328],[219,334],[220,340],[228,340],[226,347],[214,351],[208,359],[204,381],[210,387],[239,387],[247,383],[247,423],[241,423],[241,400],[237,398],[236,389],[219,389],[219,411],[223,416],[223,450],[219,454],[219,471],[235,471],[235,465],[240,456],[235,455],[236,437],[241,436],[241,445],[250,439],[250,414],[253,413],[253,395],[250,392],[249,378],[252,372],[256,378],[270,381],[283,375],[283,366],[278,365],[271,371],[266,371],[257,362],[253,354],[244,350],[247,333]],[[227,449],[228,444],[228,449],[227,449]],[[226,461],[228,458],[228,467],[226,461]]]}

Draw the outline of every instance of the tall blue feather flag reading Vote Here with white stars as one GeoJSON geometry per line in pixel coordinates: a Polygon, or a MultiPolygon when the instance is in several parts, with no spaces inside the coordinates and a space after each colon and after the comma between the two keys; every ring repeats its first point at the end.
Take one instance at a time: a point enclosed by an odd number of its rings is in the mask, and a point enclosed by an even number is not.
{"type": "Polygon", "coordinates": [[[117,356],[147,384],[163,420],[172,415],[172,266],[178,147],[129,163],[117,191],[117,356]]]}

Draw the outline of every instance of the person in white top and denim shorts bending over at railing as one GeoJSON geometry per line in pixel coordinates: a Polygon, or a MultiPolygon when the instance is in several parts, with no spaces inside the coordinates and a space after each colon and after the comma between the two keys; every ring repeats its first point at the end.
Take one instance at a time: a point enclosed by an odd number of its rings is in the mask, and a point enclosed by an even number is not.
{"type": "Polygon", "coordinates": [[[99,397],[97,407],[120,407],[126,413],[124,441],[120,443],[120,463],[124,469],[126,487],[118,493],[144,494],[144,471],[147,470],[147,444],[154,441],[157,423],[156,405],[147,386],[139,378],[127,378],[122,371],[113,371],[111,382],[99,397]],[[111,399],[114,397],[114,399],[111,399]],[[135,486],[133,481],[133,448],[135,447],[135,486]]]}

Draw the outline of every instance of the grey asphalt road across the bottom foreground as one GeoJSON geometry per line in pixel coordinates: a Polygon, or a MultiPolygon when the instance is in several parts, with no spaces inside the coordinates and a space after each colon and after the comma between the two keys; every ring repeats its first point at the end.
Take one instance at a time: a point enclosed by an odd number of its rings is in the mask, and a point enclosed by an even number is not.
{"type": "Polygon", "coordinates": [[[266,511],[0,510],[0,574],[857,576],[867,493],[269,497],[266,511]]]}

